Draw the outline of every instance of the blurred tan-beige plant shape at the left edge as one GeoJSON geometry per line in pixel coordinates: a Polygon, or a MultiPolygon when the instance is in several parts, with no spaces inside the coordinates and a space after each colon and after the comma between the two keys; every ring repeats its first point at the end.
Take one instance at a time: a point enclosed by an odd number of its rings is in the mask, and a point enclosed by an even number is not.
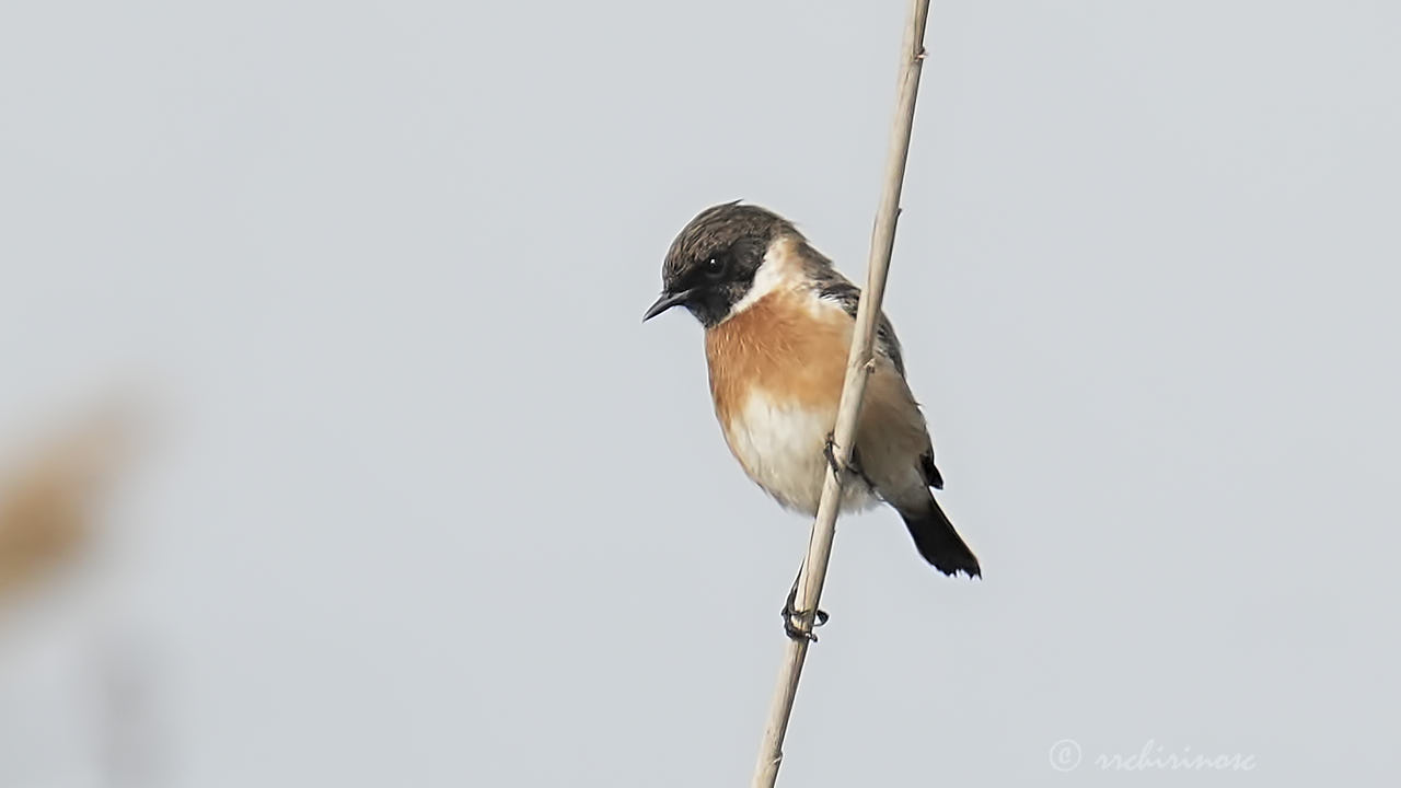
{"type": "Polygon", "coordinates": [[[81,557],[95,505],[132,437],[126,407],[105,407],[0,473],[0,603],[81,557]]]}

